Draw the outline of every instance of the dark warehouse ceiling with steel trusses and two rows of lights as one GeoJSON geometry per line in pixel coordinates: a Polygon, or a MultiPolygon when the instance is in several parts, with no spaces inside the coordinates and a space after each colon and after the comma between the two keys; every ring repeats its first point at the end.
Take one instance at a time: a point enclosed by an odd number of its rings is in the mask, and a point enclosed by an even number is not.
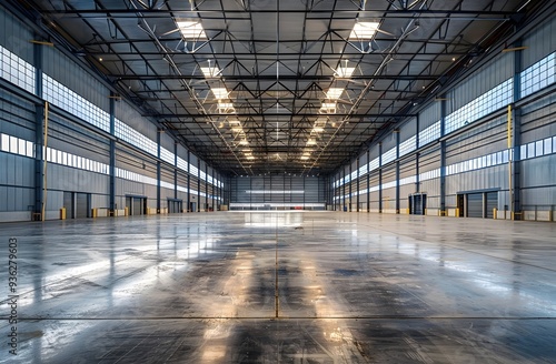
{"type": "Polygon", "coordinates": [[[231,175],[331,173],[528,10],[526,0],[8,2],[231,175]]]}

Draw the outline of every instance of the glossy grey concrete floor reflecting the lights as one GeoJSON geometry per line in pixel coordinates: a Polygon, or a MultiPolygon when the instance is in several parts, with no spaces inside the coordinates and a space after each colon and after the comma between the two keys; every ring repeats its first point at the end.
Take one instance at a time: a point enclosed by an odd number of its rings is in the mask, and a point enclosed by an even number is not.
{"type": "Polygon", "coordinates": [[[556,224],[214,212],[0,236],[1,363],[556,363],[556,224]]]}

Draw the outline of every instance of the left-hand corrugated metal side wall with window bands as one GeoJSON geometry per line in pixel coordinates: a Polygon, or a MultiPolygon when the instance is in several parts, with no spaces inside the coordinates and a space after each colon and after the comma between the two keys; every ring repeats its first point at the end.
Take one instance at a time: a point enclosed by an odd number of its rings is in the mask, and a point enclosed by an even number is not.
{"type": "Polygon", "coordinates": [[[224,178],[0,7],[0,222],[216,211],[224,178]],[[46,131],[46,133],[44,133],[46,131]],[[191,202],[195,202],[191,205],[191,202]]]}

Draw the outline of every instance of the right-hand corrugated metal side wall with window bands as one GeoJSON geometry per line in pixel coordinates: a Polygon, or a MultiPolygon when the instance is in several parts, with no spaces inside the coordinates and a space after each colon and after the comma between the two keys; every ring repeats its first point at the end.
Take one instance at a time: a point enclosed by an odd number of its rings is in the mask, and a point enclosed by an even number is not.
{"type": "Polygon", "coordinates": [[[523,48],[500,51],[383,133],[335,173],[329,203],[414,213],[419,201],[429,215],[555,221],[555,30],[554,19],[538,24],[515,40],[523,48]]]}

